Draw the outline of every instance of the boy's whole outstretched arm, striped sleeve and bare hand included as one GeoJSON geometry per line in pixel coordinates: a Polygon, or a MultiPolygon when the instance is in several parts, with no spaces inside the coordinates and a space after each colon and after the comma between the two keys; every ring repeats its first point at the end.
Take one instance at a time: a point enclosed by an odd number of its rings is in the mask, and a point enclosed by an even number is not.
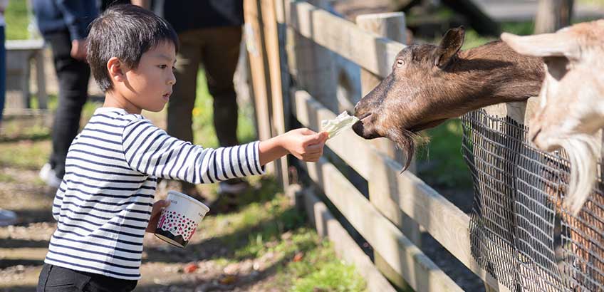
{"type": "Polygon", "coordinates": [[[218,149],[167,135],[149,120],[135,120],[123,132],[123,151],[132,170],[193,184],[264,174],[264,165],[288,153],[316,162],[328,133],[296,129],[263,142],[218,149]]]}

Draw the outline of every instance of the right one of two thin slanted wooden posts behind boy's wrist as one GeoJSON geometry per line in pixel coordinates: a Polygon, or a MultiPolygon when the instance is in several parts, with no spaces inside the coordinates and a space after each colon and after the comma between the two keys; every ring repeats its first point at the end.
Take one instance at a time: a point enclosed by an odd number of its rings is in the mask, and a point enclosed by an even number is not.
{"type": "MultiPolygon", "coordinates": [[[[264,44],[266,58],[269,65],[270,91],[272,100],[272,134],[281,135],[286,130],[283,100],[284,90],[281,83],[281,58],[279,52],[279,37],[277,31],[277,18],[275,0],[261,0],[262,27],[264,29],[264,44]]],[[[276,177],[281,187],[288,186],[287,157],[283,156],[275,161],[276,177]]]]}

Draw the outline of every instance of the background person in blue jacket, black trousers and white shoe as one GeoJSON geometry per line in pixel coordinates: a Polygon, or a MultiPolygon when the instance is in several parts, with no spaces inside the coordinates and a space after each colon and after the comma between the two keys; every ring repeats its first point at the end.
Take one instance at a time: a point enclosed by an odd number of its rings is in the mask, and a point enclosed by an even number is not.
{"type": "Polygon", "coordinates": [[[80,129],[88,99],[90,67],[85,62],[88,25],[98,16],[97,0],[33,0],[33,12],[44,41],[53,51],[58,78],[58,106],[51,157],[40,171],[46,184],[58,188],[65,174],[65,158],[80,129]]]}

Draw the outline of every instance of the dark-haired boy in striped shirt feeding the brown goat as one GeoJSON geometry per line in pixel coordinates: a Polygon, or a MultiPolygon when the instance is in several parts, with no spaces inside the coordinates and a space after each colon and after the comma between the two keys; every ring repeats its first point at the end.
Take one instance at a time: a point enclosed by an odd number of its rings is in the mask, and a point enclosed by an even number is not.
{"type": "Polygon", "coordinates": [[[326,132],[297,129],[212,150],[152,125],[140,113],[160,111],[170,99],[177,48],[170,24],[138,6],[113,6],[91,24],[88,63],[105,103],[69,149],[38,292],[132,291],[143,235],[155,230],[167,206],[152,204],[157,177],[212,183],[262,174],[288,153],[311,162],[321,157],[326,132]]]}

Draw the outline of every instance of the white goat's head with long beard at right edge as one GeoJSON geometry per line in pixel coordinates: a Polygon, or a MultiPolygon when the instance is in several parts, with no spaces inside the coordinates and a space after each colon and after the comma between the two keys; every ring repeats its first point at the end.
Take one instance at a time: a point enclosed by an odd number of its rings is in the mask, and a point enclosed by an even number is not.
{"type": "Polygon", "coordinates": [[[534,36],[503,33],[501,39],[521,54],[543,57],[546,78],[529,138],[541,150],[568,152],[567,204],[577,214],[595,182],[599,147],[593,134],[604,127],[604,20],[534,36]]]}

